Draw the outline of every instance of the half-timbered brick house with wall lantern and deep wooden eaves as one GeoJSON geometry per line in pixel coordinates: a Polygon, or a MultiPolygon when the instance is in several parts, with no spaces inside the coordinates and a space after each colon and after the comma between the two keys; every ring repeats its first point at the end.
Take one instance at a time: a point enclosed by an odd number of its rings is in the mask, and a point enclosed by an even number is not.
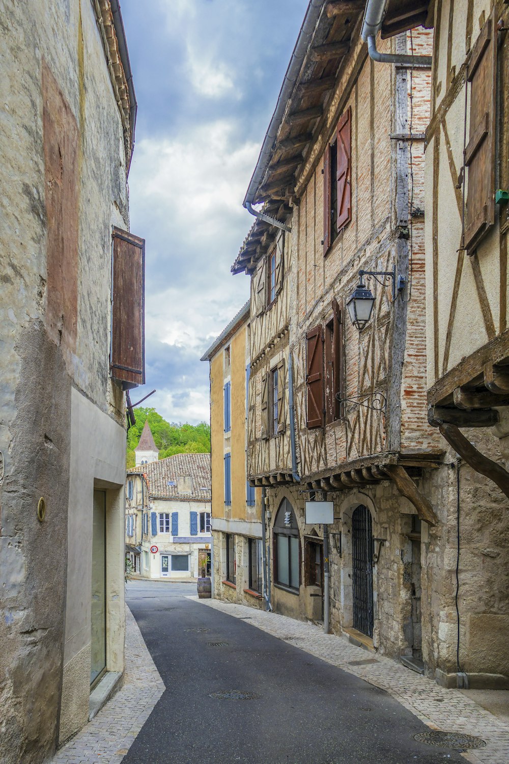
{"type": "MultiPolygon", "coordinates": [[[[467,638],[470,616],[458,631],[455,455],[427,421],[433,18],[389,2],[377,22],[372,5],[365,16],[310,3],[246,193],[258,219],[232,267],[251,277],[248,476],[267,494],[271,603],[322,619],[323,528],[305,524],[304,497],[327,498],[332,629],[448,685],[464,681],[459,633],[472,681],[504,682],[475,617],[477,631],[467,638]]],[[[485,545],[489,568],[488,533],[485,545]]],[[[465,578],[464,612],[482,583],[495,613],[490,581],[465,578]]]]}

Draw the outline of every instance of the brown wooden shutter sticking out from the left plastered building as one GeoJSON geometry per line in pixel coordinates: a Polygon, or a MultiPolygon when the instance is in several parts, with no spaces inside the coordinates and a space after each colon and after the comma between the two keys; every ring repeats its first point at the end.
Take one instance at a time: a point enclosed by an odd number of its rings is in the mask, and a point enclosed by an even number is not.
{"type": "Polygon", "coordinates": [[[113,229],[111,377],[145,384],[145,240],[113,229]]]}

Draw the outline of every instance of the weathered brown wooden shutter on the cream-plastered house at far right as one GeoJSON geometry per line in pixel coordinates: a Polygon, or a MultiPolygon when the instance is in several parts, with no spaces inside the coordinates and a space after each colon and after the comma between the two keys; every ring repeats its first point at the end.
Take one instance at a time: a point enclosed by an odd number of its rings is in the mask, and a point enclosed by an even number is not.
{"type": "MultiPolygon", "coordinates": [[[[495,223],[495,125],[497,29],[495,9],[472,49],[468,66],[470,89],[469,168],[465,220],[467,251],[475,248],[495,223]]],[[[469,253],[470,254],[470,253],[469,253]]]]}

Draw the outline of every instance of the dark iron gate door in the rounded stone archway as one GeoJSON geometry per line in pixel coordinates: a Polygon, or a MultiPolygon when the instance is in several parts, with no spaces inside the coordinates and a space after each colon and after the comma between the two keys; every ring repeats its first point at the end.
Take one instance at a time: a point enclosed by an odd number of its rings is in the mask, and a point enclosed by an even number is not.
{"type": "Polygon", "coordinates": [[[373,636],[373,536],[371,513],[362,504],[352,516],[353,628],[373,636]]]}

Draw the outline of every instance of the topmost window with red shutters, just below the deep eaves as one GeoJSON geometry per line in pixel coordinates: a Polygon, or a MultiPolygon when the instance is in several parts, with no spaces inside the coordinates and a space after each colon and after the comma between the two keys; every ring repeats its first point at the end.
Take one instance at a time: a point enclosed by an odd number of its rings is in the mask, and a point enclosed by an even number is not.
{"type": "Polygon", "coordinates": [[[324,154],[324,254],[352,219],[350,107],[337,125],[324,154]]]}

